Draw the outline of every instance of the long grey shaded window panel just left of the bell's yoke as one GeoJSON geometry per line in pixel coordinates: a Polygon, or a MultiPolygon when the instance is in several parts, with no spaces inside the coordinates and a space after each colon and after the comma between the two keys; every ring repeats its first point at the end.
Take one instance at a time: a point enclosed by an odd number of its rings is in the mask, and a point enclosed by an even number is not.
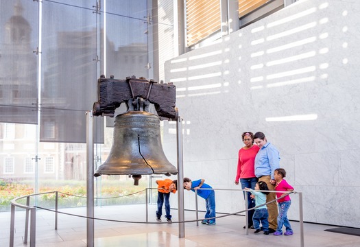
{"type": "MultiPolygon", "coordinates": [[[[85,112],[97,101],[93,5],[92,1],[43,1],[40,141],[86,143],[85,112]]],[[[101,121],[97,127],[101,128],[101,121]]]]}

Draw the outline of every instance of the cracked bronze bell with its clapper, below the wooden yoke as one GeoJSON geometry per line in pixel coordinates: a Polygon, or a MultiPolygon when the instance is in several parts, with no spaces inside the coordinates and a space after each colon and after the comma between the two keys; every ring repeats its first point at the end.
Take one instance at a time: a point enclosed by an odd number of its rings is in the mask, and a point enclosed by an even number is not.
{"type": "Polygon", "coordinates": [[[142,174],[178,174],[164,154],[157,115],[130,110],[115,117],[110,154],[94,176],[102,174],[131,174],[135,185],[142,174]]]}

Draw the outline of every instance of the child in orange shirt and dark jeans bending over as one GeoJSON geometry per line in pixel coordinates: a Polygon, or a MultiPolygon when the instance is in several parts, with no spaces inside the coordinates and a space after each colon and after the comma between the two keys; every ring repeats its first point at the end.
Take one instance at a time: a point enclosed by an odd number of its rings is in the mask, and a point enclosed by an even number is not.
{"type": "Polygon", "coordinates": [[[178,187],[178,180],[156,180],[155,183],[158,185],[158,211],[156,211],[156,220],[161,222],[161,215],[163,214],[163,204],[165,202],[165,217],[167,222],[171,223],[171,214],[170,214],[170,192],[176,193],[176,188],[178,187]]]}

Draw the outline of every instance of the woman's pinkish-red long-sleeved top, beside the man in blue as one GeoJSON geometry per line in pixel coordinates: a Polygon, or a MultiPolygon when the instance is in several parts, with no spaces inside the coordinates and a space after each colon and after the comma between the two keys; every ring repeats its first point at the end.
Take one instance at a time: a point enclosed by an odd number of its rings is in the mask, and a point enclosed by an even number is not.
{"type": "Polygon", "coordinates": [[[248,150],[241,148],[239,150],[239,159],[237,161],[237,177],[236,182],[239,182],[239,178],[255,178],[255,156],[259,151],[257,145],[253,145],[248,150]]]}

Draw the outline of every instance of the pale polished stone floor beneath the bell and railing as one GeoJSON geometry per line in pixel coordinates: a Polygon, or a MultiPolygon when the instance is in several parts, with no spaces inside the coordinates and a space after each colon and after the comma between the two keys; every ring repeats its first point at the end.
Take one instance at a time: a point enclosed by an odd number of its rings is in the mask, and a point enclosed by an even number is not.
{"type": "MultiPolygon", "coordinates": [[[[59,211],[86,216],[86,208],[59,209],[59,211]]],[[[254,234],[250,230],[245,234],[243,225],[245,217],[232,215],[217,219],[215,226],[206,226],[195,222],[185,223],[184,238],[179,238],[178,224],[155,222],[155,206],[149,206],[148,215],[151,224],[145,224],[145,206],[112,206],[95,207],[95,246],[134,246],[134,247],[180,247],[180,246],[267,246],[289,247],[300,246],[300,224],[291,222],[294,235],[274,236],[254,234]],[[117,222],[130,221],[141,223],[117,222]]],[[[178,219],[178,211],[172,210],[173,221],[178,219]]],[[[199,218],[204,213],[200,212],[199,218]]],[[[218,214],[217,216],[219,216],[218,214]]],[[[195,220],[195,212],[185,211],[185,220],[195,220]]],[[[54,230],[54,213],[39,210],[36,212],[36,246],[37,247],[82,247],[86,246],[86,218],[71,215],[58,215],[58,230],[54,230]]],[[[164,221],[164,219],[163,219],[164,221]]],[[[10,212],[0,213],[0,246],[9,246],[10,212]]],[[[304,246],[360,246],[360,237],[324,231],[335,226],[321,224],[304,224],[304,246]]],[[[14,246],[23,244],[25,229],[25,211],[15,213],[14,246]]],[[[29,239],[28,239],[29,242],[29,239]]]]}

